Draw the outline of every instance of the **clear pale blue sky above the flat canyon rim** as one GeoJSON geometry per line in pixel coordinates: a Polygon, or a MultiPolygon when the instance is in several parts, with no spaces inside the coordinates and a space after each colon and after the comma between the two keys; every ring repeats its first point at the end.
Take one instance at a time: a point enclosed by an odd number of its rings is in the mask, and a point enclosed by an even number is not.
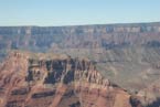
{"type": "Polygon", "coordinates": [[[160,0],[0,0],[0,25],[160,21],[160,0]]]}

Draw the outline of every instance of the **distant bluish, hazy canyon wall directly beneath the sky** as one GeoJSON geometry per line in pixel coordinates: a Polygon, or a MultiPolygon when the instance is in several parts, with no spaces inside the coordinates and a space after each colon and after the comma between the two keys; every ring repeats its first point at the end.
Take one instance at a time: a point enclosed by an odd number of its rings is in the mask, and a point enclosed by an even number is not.
{"type": "Polygon", "coordinates": [[[159,22],[79,26],[0,26],[0,49],[47,51],[52,47],[110,49],[135,44],[158,46],[159,34],[159,22]]]}

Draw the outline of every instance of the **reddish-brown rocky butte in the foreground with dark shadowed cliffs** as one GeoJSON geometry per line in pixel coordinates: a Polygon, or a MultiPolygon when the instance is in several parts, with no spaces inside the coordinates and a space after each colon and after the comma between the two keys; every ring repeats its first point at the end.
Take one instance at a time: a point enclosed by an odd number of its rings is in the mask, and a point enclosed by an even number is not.
{"type": "Polygon", "coordinates": [[[140,107],[134,100],[88,60],[14,52],[0,66],[1,107],[140,107]]]}

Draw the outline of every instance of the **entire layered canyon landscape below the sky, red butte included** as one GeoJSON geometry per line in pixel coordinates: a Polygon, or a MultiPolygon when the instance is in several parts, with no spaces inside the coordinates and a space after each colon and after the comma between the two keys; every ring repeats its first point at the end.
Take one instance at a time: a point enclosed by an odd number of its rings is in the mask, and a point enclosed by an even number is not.
{"type": "Polygon", "coordinates": [[[7,107],[160,105],[160,22],[0,26],[0,62],[7,107]]]}

